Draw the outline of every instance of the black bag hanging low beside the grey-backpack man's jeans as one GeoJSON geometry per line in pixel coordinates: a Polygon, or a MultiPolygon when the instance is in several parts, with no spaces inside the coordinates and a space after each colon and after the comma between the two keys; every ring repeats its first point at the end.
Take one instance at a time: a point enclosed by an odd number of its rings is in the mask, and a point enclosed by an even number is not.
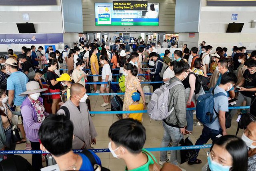
{"type": "MultiPolygon", "coordinates": [[[[192,141],[189,139],[189,137],[186,137],[186,139],[180,140],[179,146],[191,146],[193,145],[192,141]]],[[[178,163],[182,164],[193,157],[197,155],[196,149],[186,149],[186,150],[178,150],[177,151],[177,161],[178,163]]]]}

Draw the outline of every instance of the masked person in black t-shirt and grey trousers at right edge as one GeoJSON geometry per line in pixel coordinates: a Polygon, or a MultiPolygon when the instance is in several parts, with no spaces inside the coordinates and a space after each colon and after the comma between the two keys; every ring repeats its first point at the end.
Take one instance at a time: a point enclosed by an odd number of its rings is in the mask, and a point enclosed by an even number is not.
{"type": "MultiPolygon", "coordinates": [[[[247,70],[245,70],[243,74],[243,79],[241,82],[237,85],[240,88],[238,89],[239,93],[236,101],[236,104],[234,106],[240,106],[242,105],[243,101],[246,101],[246,105],[250,106],[252,101],[252,96],[256,93],[256,61],[253,59],[249,59],[245,62],[247,66],[247,70]]],[[[247,111],[250,111],[250,109],[246,109],[247,111]]],[[[237,113],[237,110],[233,109],[231,111],[231,116],[234,117],[234,115],[237,113]]]]}

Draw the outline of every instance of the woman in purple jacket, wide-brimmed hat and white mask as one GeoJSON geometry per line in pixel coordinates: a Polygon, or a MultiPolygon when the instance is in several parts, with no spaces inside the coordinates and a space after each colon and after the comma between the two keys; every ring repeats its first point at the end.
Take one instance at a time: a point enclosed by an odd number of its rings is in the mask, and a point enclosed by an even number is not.
{"type": "MultiPolygon", "coordinates": [[[[43,99],[39,96],[40,92],[47,89],[40,89],[40,85],[35,81],[28,82],[26,89],[27,91],[20,94],[21,96],[27,95],[21,106],[23,125],[32,150],[40,150],[38,131],[45,116],[49,115],[49,113],[44,111],[43,99]]],[[[43,167],[41,154],[32,154],[32,167],[35,171],[40,171],[43,167]]]]}

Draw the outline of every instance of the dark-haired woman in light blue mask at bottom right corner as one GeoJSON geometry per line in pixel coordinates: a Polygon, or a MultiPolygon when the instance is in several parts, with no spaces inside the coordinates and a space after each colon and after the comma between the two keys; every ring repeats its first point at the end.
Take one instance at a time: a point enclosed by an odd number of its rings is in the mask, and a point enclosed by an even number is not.
{"type": "MultiPolygon", "coordinates": [[[[247,167],[246,144],[234,135],[218,138],[207,153],[202,171],[254,171],[247,167]]],[[[254,167],[255,168],[255,167],[254,167]]]]}

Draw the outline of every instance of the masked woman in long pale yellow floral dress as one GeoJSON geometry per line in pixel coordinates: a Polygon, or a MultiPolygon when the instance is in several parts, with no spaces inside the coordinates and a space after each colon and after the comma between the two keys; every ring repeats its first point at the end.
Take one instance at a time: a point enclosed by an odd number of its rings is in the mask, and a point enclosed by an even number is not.
{"type": "MultiPolygon", "coordinates": [[[[138,80],[137,74],[138,69],[136,66],[132,65],[131,63],[126,63],[124,65],[124,76],[125,76],[125,87],[126,91],[124,94],[124,105],[123,105],[123,111],[129,110],[129,105],[133,104],[132,101],[132,93],[134,91],[139,91],[143,100],[143,105],[146,105],[144,92],[142,90],[142,87],[140,86],[140,81],[138,80]]],[[[122,115],[122,114],[121,114],[122,115]]],[[[122,118],[121,115],[117,114],[117,117],[119,119],[122,118]]],[[[127,115],[123,114],[123,117],[126,118],[127,115]]]]}

